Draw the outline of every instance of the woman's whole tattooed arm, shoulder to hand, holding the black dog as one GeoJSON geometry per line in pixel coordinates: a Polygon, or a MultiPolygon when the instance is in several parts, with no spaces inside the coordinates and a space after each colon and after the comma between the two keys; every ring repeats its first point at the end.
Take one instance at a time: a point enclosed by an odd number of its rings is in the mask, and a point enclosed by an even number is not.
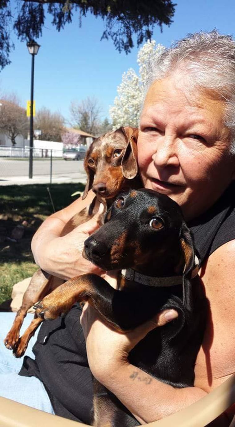
{"type": "MultiPolygon", "coordinates": [[[[82,317],[92,373],[141,424],[194,403],[235,372],[235,241],[218,248],[204,267],[200,276],[211,313],[197,357],[194,387],[175,389],[129,363],[129,351],[156,327],[153,322],[122,335],[106,327],[91,307],[82,317]]],[[[227,425],[224,418],[218,425],[227,425]]]]}

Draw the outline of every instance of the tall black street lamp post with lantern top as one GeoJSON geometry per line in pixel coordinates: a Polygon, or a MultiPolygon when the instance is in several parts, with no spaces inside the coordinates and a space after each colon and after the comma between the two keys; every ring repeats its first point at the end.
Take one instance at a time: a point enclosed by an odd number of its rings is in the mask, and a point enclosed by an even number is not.
{"type": "Polygon", "coordinates": [[[32,148],[33,148],[33,84],[34,84],[34,56],[37,55],[40,45],[35,41],[29,41],[27,48],[32,55],[31,67],[31,98],[30,98],[30,122],[29,122],[29,178],[32,178],[32,148]]]}

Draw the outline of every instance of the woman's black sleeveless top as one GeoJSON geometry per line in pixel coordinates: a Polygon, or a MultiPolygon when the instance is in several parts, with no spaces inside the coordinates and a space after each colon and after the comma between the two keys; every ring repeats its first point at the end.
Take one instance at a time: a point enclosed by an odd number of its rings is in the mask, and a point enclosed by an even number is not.
{"type": "MultiPolygon", "coordinates": [[[[218,247],[235,239],[234,194],[232,183],[211,209],[188,224],[200,264],[218,247]]],[[[43,382],[56,415],[91,424],[92,378],[80,315],[76,304],[65,318],[43,322],[33,347],[35,360],[24,357],[19,374],[43,382]]]]}

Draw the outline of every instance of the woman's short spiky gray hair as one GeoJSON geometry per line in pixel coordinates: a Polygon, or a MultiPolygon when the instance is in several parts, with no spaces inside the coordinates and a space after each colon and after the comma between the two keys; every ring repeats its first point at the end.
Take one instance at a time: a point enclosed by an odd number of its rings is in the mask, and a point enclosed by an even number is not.
{"type": "Polygon", "coordinates": [[[146,91],[156,80],[175,70],[191,76],[192,87],[213,91],[227,104],[225,124],[231,135],[231,153],[235,155],[235,41],[217,30],[196,32],[153,56],[148,64],[146,91]]]}

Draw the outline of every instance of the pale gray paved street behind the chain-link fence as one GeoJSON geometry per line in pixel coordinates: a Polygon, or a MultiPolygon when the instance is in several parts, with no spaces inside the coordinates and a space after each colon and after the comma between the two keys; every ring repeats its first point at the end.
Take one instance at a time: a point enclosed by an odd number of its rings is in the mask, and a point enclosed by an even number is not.
{"type": "MultiPolygon", "coordinates": [[[[33,159],[33,178],[28,178],[29,161],[0,158],[0,185],[50,182],[50,159],[33,159]]],[[[52,162],[52,182],[85,182],[83,161],[55,159],[52,162]]]]}

